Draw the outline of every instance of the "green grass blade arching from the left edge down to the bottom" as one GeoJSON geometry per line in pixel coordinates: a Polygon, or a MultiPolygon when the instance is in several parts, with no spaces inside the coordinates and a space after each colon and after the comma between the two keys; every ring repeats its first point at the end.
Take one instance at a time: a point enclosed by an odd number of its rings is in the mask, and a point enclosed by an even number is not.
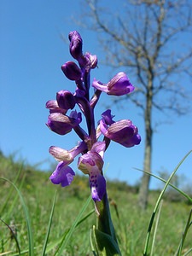
{"type": "Polygon", "coordinates": [[[17,194],[20,197],[20,202],[21,202],[21,205],[23,207],[23,212],[24,212],[25,218],[26,218],[26,228],[27,228],[28,242],[29,242],[29,256],[33,256],[34,255],[34,248],[33,248],[32,225],[31,225],[31,220],[30,220],[30,217],[29,217],[29,212],[28,212],[28,209],[26,207],[26,203],[24,201],[24,198],[23,198],[23,196],[20,193],[20,189],[18,189],[16,187],[15,183],[12,183],[6,177],[0,177],[0,179],[3,179],[4,181],[10,183],[15,188],[17,194]]]}

